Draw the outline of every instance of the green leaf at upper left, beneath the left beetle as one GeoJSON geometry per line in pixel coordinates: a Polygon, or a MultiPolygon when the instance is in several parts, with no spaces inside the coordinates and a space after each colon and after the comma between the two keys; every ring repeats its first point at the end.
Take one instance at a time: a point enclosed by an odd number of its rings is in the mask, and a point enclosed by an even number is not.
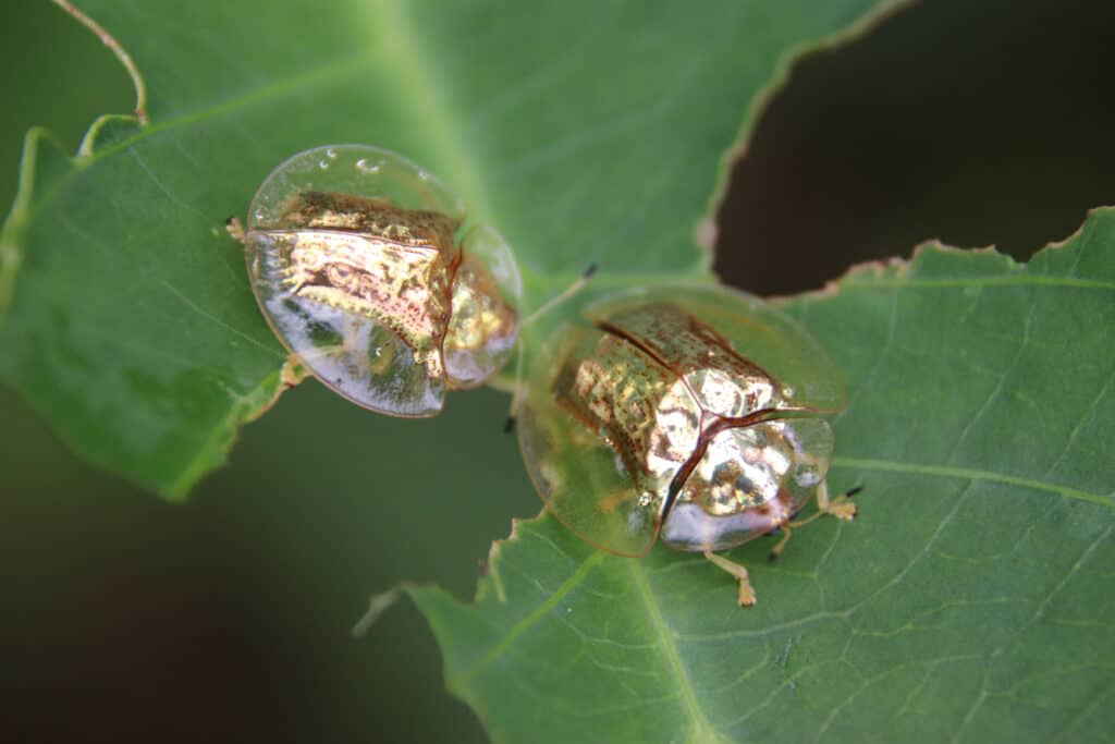
{"type": "Polygon", "coordinates": [[[423,163],[510,239],[527,309],[593,261],[599,287],[707,274],[694,235],[764,91],[895,2],[80,4],[136,116],[99,119],[74,161],[28,137],[0,380],[177,500],[278,394],[223,223],[284,157],[365,142],[423,163]]]}

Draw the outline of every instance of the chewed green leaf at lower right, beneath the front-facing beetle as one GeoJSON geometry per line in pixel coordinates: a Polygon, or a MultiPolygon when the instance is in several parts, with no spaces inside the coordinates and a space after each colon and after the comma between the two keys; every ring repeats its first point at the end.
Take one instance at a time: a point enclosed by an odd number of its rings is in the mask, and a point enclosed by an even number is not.
{"type": "Polygon", "coordinates": [[[496,742],[1106,740],[1115,210],[1028,264],[923,247],[786,308],[849,375],[860,518],[733,551],[747,610],[699,555],[518,523],[475,606],[411,590],[449,688],[496,742]]]}

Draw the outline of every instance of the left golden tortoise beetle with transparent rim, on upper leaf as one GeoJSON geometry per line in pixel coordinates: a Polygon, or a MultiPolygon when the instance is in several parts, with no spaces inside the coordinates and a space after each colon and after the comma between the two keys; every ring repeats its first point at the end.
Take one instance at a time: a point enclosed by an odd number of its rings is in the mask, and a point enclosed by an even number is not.
{"type": "Polygon", "coordinates": [[[511,249],[465,226],[462,202],[392,152],[327,145],[263,181],[248,273],[268,323],[326,386],[391,416],[433,416],[514,351],[522,282],[511,249]]]}

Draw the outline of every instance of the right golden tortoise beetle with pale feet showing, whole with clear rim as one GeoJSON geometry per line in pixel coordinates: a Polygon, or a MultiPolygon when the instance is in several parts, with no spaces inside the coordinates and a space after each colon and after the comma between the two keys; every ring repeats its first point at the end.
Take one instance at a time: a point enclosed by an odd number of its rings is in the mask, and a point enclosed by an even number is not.
{"type": "MultiPolygon", "coordinates": [[[[851,520],[825,483],[843,377],[801,326],[721,287],[623,293],[566,326],[529,377],[518,417],[523,457],[550,512],[582,540],[620,555],[656,540],[702,552],[780,529],[814,495],[851,520]]],[[[816,514],[814,515],[816,516],[816,514]]]]}

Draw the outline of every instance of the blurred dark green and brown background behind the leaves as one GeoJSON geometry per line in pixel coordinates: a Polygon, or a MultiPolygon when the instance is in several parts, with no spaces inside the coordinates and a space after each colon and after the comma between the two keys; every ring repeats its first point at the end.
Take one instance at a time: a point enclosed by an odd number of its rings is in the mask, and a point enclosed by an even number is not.
{"type": "MultiPolygon", "coordinates": [[[[736,167],[721,276],[785,294],[929,238],[1020,259],[1065,238],[1115,204],[1112,29],[1103,0],[927,0],[811,55],[736,167]]],[[[29,126],[72,151],[133,100],[45,0],[0,6],[0,35],[8,204],[29,126]]],[[[0,390],[0,738],[484,741],[411,607],[360,642],[348,628],[399,579],[471,596],[491,540],[539,511],[514,438],[475,435],[498,433],[506,403],[457,395],[406,423],[310,383],[172,506],[76,460],[0,390]],[[415,467],[430,450],[453,462],[415,467]]]]}

